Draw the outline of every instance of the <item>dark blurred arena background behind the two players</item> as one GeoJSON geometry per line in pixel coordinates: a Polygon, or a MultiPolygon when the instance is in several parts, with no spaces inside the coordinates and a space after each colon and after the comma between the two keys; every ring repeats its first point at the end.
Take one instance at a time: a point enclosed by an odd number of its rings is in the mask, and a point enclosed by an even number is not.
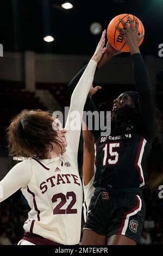
{"type": "MultiPolygon", "coordinates": [[[[101,29],[107,28],[118,14],[134,14],[145,27],[140,50],[151,76],[156,104],[163,112],[163,58],[158,54],[159,45],[163,44],[163,0],[71,0],[71,9],[62,8],[62,3],[65,1],[1,1],[0,179],[16,164],[8,156],[5,137],[11,118],[24,108],[55,111],[68,106],[67,84],[90,59],[101,29]],[[92,25],[95,22],[99,24],[92,25]],[[44,41],[45,36],[52,36],[54,41],[44,41]]],[[[115,97],[134,88],[129,53],[114,57],[106,64],[97,73],[95,85],[103,89],[93,100],[97,106],[108,103],[111,110],[115,97]]],[[[141,239],[143,245],[163,245],[163,199],[159,197],[159,186],[163,185],[162,153],[160,137],[153,144],[146,168],[143,197],[147,212],[141,239]]],[[[81,175],[82,154],[81,139],[78,157],[81,175]]],[[[28,205],[20,191],[0,204],[0,245],[13,245],[21,239],[27,213],[28,205]]]]}

